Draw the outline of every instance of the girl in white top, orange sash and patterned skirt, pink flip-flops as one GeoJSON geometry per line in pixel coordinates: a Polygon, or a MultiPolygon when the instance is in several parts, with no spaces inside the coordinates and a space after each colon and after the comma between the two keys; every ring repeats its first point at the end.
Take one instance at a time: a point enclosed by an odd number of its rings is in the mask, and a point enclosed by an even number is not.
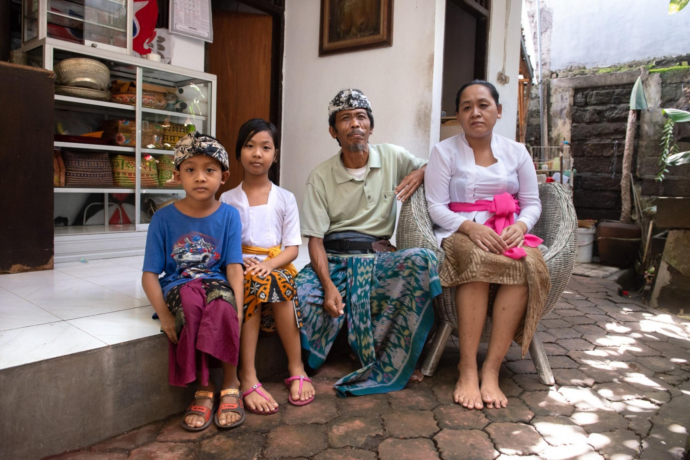
{"type": "Polygon", "coordinates": [[[277,331],[288,355],[288,401],[306,406],[315,394],[302,363],[302,318],[293,281],[297,270],[292,262],[302,244],[297,201],[268,179],[268,170],[277,161],[279,139],[277,128],[263,119],[251,119],[239,128],[235,154],[244,167],[244,181],[220,199],[237,208],[242,219],[245,276],[239,380],[244,406],[255,414],[278,410],[278,403],[257,379],[254,358],[259,330],[277,331]]]}

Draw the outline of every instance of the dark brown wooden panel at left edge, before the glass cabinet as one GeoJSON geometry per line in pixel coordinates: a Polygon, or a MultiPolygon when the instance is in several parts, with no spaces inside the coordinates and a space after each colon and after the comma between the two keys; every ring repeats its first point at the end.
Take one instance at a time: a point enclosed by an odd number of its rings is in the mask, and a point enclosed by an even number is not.
{"type": "Polygon", "coordinates": [[[0,273],[53,257],[55,74],[0,62],[0,273]]]}

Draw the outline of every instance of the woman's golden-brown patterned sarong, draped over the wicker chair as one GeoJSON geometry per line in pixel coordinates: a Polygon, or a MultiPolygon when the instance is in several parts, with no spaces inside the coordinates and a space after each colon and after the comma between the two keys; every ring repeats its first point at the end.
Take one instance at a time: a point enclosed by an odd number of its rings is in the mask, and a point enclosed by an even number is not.
{"type": "Polygon", "coordinates": [[[485,330],[491,328],[491,304],[498,285],[527,286],[529,289],[527,310],[514,337],[515,342],[522,348],[522,357],[524,357],[532,336],[537,330],[537,323],[542,317],[546,296],[551,288],[549,270],[546,268],[540,250],[523,246],[526,256],[515,260],[482,250],[461,232],[455,232],[444,239],[441,247],[446,252],[446,260],[439,271],[441,286],[453,287],[472,281],[491,283],[490,308],[487,312],[485,330]]]}

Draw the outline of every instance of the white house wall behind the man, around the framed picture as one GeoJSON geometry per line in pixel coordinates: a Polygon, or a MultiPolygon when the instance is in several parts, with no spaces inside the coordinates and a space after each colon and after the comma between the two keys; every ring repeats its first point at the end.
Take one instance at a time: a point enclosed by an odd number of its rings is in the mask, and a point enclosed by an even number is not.
{"type": "MultiPolygon", "coordinates": [[[[370,99],[371,143],[395,143],[427,158],[440,134],[445,0],[397,0],[393,46],[319,57],[319,6],[290,0],[285,12],[281,186],[302,202],[311,170],[338,151],[328,134],[328,102],[344,88],[370,99]]],[[[506,72],[498,85],[504,118],[496,132],[515,138],[520,0],[512,0],[506,72]]],[[[503,66],[505,3],[494,2],[489,32],[489,81],[503,66]]]]}

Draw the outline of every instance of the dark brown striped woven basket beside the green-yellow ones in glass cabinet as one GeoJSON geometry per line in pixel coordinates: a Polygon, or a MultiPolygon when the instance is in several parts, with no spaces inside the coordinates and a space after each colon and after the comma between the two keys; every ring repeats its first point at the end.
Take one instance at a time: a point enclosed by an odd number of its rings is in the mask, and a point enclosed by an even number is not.
{"type": "Polygon", "coordinates": [[[111,187],[112,169],[107,153],[62,152],[65,187],[111,187]]]}

